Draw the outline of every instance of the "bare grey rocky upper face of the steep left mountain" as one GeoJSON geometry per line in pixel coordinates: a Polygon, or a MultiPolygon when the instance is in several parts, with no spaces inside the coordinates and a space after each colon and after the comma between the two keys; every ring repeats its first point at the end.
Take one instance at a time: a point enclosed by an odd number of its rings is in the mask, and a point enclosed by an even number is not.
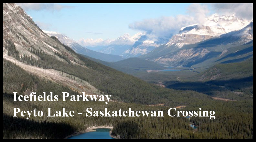
{"type": "MultiPolygon", "coordinates": [[[[19,56],[29,55],[37,58],[29,50],[40,49],[49,55],[55,55],[55,53],[66,54],[70,59],[79,60],[76,56],[70,54],[65,47],[44,33],[20,6],[16,4],[4,4],[3,20],[4,41],[11,40],[14,42],[16,49],[19,51],[19,56]]],[[[7,52],[5,49],[6,44],[4,42],[4,53],[7,52]]],[[[60,57],[56,58],[64,61],[60,57]]]]}

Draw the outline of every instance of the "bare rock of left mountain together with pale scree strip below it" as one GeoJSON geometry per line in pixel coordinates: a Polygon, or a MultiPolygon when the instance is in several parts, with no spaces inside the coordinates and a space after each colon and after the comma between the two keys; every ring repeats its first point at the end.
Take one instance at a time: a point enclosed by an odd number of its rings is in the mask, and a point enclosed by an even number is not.
{"type": "MultiPolygon", "coordinates": [[[[30,74],[68,86],[76,91],[97,93],[95,87],[86,81],[79,82],[78,77],[75,80],[67,77],[71,76],[69,74],[64,76],[63,72],[59,70],[42,68],[46,64],[52,66],[49,62],[77,65],[82,61],[77,54],[44,33],[20,6],[16,4],[3,5],[4,59],[22,67],[30,74]],[[48,57],[51,58],[51,61],[48,61],[48,57]],[[38,66],[34,66],[35,63],[38,66]]],[[[79,65],[86,68],[83,64],[79,65]]]]}

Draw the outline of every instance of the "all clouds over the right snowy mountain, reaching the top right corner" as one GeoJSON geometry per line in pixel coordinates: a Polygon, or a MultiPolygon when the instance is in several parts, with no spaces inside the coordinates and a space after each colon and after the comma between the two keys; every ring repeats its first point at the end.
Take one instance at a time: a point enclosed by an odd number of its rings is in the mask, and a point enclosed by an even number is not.
{"type": "MultiPolygon", "coordinates": [[[[211,9],[223,15],[233,15],[246,19],[252,19],[252,4],[211,4],[211,9]]],[[[133,30],[146,31],[147,36],[153,40],[175,35],[180,28],[192,24],[204,24],[209,14],[208,5],[192,4],[187,7],[187,15],[162,16],[159,18],[144,19],[129,25],[133,30]]]]}

